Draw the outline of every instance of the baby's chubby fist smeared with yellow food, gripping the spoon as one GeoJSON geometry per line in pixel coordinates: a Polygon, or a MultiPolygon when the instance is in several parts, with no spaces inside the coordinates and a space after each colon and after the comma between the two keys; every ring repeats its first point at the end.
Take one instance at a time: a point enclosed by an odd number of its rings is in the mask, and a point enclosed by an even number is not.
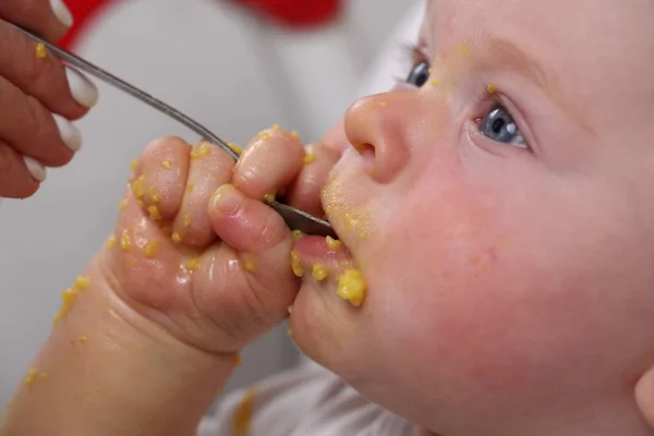
{"type": "Polygon", "coordinates": [[[257,135],[238,167],[206,143],[150,144],[100,256],[102,279],[178,339],[238,352],[282,320],[298,292],[291,232],[262,199],[304,159],[296,136],[277,129],[257,135]]]}

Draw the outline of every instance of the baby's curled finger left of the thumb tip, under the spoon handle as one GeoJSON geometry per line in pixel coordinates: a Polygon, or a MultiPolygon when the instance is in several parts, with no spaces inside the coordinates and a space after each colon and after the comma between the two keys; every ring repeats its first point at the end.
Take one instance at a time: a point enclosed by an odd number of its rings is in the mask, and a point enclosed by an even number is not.
{"type": "Polygon", "coordinates": [[[221,148],[201,142],[191,150],[184,198],[173,225],[173,238],[185,245],[204,249],[216,233],[207,216],[207,204],[218,187],[232,178],[234,160],[221,148]]]}

